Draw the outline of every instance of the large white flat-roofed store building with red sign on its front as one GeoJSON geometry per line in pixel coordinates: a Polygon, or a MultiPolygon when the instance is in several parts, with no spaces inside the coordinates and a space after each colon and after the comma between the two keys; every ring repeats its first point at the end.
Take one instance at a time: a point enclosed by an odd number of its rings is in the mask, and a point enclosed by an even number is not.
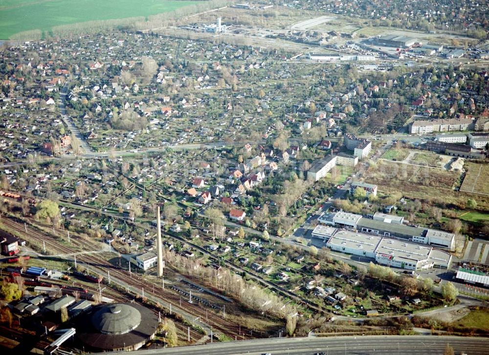
{"type": "Polygon", "coordinates": [[[333,251],[369,257],[378,264],[407,270],[447,269],[452,258],[432,247],[349,230],[337,230],[326,245],[333,251]]]}

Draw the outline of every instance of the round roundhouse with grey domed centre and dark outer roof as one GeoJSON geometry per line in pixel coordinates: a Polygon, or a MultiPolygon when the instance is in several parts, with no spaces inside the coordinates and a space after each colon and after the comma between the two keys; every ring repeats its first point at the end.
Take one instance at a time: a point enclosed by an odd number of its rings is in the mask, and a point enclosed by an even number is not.
{"type": "Polygon", "coordinates": [[[76,334],[94,351],[136,350],[153,339],[158,317],[137,303],[112,303],[83,314],[76,334]]]}

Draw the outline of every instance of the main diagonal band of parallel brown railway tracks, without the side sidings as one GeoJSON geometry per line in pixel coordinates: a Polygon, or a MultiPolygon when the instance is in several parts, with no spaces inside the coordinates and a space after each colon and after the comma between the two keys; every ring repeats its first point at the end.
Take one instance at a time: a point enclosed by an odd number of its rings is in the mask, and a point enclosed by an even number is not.
{"type": "MultiPolygon", "coordinates": [[[[206,310],[198,304],[191,304],[187,300],[181,299],[181,296],[179,294],[171,292],[169,289],[163,290],[157,287],[154,283],[144,280],[137,273],[129,273],[129,271],[112,265],[102,255],[96,253],[88,254],[74,250],[73,248],[70,248],[63,243],[60,243],[59,240],[57,240],[55,237],[47,234],[44,231],[40,231],[33,227],[30,227],[30,225],[27,228],[26,232],[24,221],[21,220],[14,221],[11,218],[3,217],[1,223],[8,229],[16,231],[18,235],[21,235],[25,239],[36,240],[37,242],[44,242],[46,249],[59,252],[58,255],[50,256],[58,256],[66,258],[68,260],[72,260],[73,256],[76,254],[77,263],[83,263],[87,265],[89,269],[98,271],[103,276],[106,276],[106,271],[110,270],[111,279],[120,280],[123,284],[128,286],[130,285],[132,291],[135,291],[135,293],[139,295],[142,295],[144,289],[144,294],[146,297],[156,299],[160,304],[163,305],[165,303],[170,303],[177,313],[179,313],[178,311],[181,310],[185,313],[192,315],[194,317],[193,322],[206,325],[207,327],[205,328],[212,330],[214,333],[221,333],[232,339],[234,339],[235,337],[242,340],[252,338],[252,329],[247,329],[246,327],[242,327],[235,321],[222,318],[221,314],[216,313],[212,309],[206,310]]],[[[64,233],[66,231],[58,230],[58,232],[64,233]]],[[[85,240],[76,235],[71,235],[70,241],[73,247],[77,247],[83,251],[92,251],[94,249],[93,241],[85,240]]],[[[259,335],[256,333],[257,332],[255,332],[255,337],[256,335],[259,335]]]]}

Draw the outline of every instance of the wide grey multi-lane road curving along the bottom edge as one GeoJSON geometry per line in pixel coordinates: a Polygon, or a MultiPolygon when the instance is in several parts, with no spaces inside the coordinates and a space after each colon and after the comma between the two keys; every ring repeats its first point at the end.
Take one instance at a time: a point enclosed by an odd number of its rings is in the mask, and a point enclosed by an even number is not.
{"type": "Polygon", "coordinates": [[[438,355],[443,354],[446,344],[455,354],[485,355],[489,338],[457,336],[335,336],[328,338],[273,338],[229,343],[214,343],[185,348],[142,350],[138,354],[185,354],[185,355],[238,355],[238,354],[299,354],[311,355],[438,355]]]}

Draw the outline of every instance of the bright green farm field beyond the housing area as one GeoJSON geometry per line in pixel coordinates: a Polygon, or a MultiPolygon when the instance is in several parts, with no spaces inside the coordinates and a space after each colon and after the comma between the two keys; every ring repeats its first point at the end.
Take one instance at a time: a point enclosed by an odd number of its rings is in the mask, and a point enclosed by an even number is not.
{"type": "Polygon", "coordinates": [[[0,0],[0,39],[24,31],[86,21],[148,17],[198,1],[187,0],[0,0]]]}

